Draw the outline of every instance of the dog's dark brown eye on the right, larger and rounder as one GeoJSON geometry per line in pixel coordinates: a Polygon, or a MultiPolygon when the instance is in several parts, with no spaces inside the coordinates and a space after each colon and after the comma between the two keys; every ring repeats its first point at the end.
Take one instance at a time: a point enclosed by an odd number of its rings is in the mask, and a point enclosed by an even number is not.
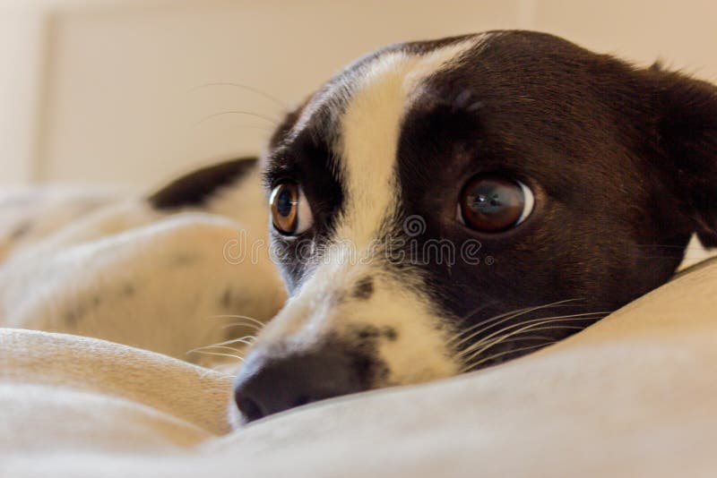
{"type": "Polygon", "coordinates": [[[535,199],[520,181],[499,175],[477,175],[463,187],[458,219],[479,232],[498,233],[531,215],[535,199]]]}

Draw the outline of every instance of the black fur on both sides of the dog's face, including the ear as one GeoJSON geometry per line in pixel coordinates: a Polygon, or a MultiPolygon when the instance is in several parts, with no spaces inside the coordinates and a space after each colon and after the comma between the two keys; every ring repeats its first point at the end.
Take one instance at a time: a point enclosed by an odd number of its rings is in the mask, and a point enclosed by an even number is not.
{"type": "MultiPolygon", "coordinates": [[[[376,239],[390,236],[394,244],[399,239],[407,259],[387,261],[383,272],[422,277],[421,294],[447,322],[442,325],[459,333],[500,313],[558,301],[569,302],[496,327],[594,313],[541,332],[545,337],[536,339],[537,345],[544,345],[546,338],[566,337],[665,283],[694,233],[705,245],[717,246],[717,89],[659,66],[636,68],[551,35],[493,33],[429,77],[405,112],[396,164],[401,209],[376,239]],[[526,184],[536,200],[531,216],[497,234],[464,226],[456,218],[462,186],[480,174],[526,184]],[[419,235],[402,228],[403,219],[412,216],[425,221],[419,235]],[[436,260],[427,252],[435,247],[423,247],[445,241],[459,249],[479,243],[485,260],[475,263],[460,255],[454,262],[436,260]]],[[[298,182],[314,213],[314,226],[298,240],[273,238],[289,295],[312,272],[298,255],[301,244],[321,251],[346,201],[337,167],[342,158],[333,151],[340,150],[334,147],[341,144],[339,121],[353,77],[376,55],[400,50],[420,55],[463,38],[395,45],[359,59],[289,115],[274,135],[266,185],[298,182]],[[330,94],[336,96],[321,102],[329,106],[309,109],[313,114],[298,127],[307,108],[330,94]]],[[[373,293],[372,282],[359,281],[353,297],[369,301],[373,293]]],[[[479,329],[457,348],[495,331],[479,329]]],[[[374,336],[362,329],[343,353],[370,348],[374,336]]],[[[534,339],[522,338],[523,345],[534,339]]],[[[499,350],[491,348],[491,354],[499,350]]],[[[522,353],[506,344],[498,360],[522,353]]],[[[381,368],[378,357],[363,356],[381,368]]],[[[368,388],[383,385],[376,381],[368,388]]]]}

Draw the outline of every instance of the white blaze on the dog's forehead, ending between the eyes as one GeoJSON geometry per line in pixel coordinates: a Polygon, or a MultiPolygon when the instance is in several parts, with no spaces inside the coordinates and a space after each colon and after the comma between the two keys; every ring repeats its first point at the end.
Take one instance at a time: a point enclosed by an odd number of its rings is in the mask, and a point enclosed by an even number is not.
{"type": "Polygon", "coordinates": [[[361,68],[341,116],[339,162],[346,199],[338,236],[360,250],[396,209],[396,152],[402,120],[422,81],[474,47],[469,38],[422,55],[386,53],[361,68]]]}

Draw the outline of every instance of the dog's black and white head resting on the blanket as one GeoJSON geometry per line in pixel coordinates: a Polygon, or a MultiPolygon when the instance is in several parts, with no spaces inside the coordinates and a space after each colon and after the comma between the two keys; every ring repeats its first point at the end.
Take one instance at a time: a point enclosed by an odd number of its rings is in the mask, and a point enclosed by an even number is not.
{"type": "Polygon", "coordinates": [[[559,38],[387,47],[265,158],[289,301],[238,375],[248,420],[535,350],[713,245],[717,94],[559,38]]]}

